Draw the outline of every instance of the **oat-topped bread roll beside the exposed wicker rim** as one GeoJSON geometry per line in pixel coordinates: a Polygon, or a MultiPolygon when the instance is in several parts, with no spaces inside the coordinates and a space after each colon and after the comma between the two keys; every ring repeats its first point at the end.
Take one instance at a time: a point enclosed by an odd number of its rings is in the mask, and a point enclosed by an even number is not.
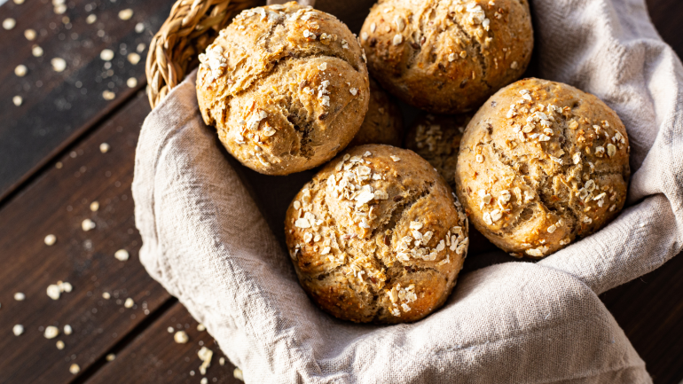
{"type": "Polygon", "coordinates": [[[200,55],[197,98],[236,159],[268,175],[316,167],[349,144],[370,99],[357,39],[296,3],[241,12],[200,55]]]}

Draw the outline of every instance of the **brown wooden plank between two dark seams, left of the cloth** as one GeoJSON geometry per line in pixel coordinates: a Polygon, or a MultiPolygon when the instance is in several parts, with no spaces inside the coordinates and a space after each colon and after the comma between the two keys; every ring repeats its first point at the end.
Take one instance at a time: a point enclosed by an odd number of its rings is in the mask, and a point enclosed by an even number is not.
{"type": "Polygon", "coordinates": [[[169,301],[137,260],[141,244],[130,196],[134,149],[149,110],[138,95],[0,209],[0,382],[69,382],[71,364],[84,372],[169,301]],[[110,146],[107,153],[100,152],[102,143],[110,146]],[[96,227],[83,231],[86,219],[96,227]],[[44,242],[49,234],[57,238],[51,247],[44,242]],[[130,254],[128,261],[114,258],[119,249],[130,254]],[[52,300],[47,287],[59,280],[73,290],[52,300]],[[24,301],[14,300],[18,292],[24,301]],[[129,297],[132,308],[124,306],[129,297]],[[14,325],[24,333],[14,336],[14,325]],[[59,327],[59,337],[43,337],[48,325],[59,327]],[[64,334],[64,325],[73,333],[64,334]],[[56,341],[66,347],[57,349],[56,341]]]}

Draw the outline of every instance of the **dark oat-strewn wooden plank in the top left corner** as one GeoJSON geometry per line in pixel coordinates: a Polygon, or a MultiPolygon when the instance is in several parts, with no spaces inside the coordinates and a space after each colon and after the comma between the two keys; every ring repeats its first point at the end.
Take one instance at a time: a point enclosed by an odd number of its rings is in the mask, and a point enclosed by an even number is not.
{"type": "Polygon", "coordinates": [[[16,20],[11,30],[0,29],[0,199],[145,85],[146,50],[172,2],[64,4],[62,14],[47,0],[11,0],[0,7],[0,19],[16,20]],[[121,20],[119,12],[128,9],[132,17],[121,20]],[[97,18],[91,24],[90,15],[97,18]],[[136,30],[137,24],[142,29],[136,30]],[[33,41],[25,37],[27,29],[35,31],[33,41]],[[34,45],[42,56],[33,55],[34,45]],[[106,49],[114,52],[114,59],[101,59],[106,49]],[[130,54],[139,55],[137,64],[131,63],[130,54]],[[52,68],[55,58],[66,60],[63,72],[52,68]],[[20,65],[27,67],[23,77],[14,74],[20,65]],[[130,78],[137,82],[132,88],[130,78]],[[114,99],[106,99],[105,91],[113,92],[114,99]],[[23,99],[20,106],[12,103],[15,96],[23,99]]]}

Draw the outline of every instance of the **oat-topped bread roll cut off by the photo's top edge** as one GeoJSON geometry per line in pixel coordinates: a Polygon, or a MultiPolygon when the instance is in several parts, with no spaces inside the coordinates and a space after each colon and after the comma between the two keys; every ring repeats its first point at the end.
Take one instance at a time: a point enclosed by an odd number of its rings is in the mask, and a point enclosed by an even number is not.
{"type": "Polygon", "coordinates": [[[361,30],[377,81],[437,114],[470,111],[514,82],[533,42],[527,0],[380,0],[361,30]]]}

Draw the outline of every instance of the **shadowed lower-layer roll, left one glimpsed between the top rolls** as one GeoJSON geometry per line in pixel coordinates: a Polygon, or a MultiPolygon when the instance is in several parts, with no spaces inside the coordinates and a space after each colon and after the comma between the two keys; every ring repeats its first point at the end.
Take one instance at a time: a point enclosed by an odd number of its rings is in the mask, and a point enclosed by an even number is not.
{"type": "Polygon", "coordinates": [[[403,115],[387,92],[370,78],[370,104],[363,125],[349,146],[365,144],[403,144],[403,115]]]}

